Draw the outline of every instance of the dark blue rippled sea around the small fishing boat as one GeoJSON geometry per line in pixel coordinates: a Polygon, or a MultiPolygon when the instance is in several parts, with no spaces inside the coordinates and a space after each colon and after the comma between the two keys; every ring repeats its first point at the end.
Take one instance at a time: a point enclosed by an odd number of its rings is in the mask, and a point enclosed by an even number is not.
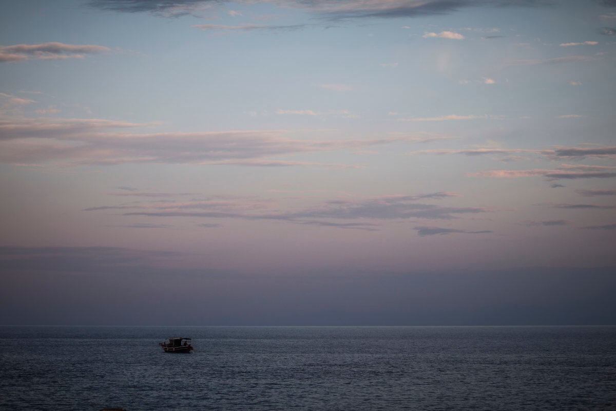
{"type": "Polygon", "coordinates": [[[0,327],[0,410],[103,407],[616,410],[616,327],[0,327]]]}

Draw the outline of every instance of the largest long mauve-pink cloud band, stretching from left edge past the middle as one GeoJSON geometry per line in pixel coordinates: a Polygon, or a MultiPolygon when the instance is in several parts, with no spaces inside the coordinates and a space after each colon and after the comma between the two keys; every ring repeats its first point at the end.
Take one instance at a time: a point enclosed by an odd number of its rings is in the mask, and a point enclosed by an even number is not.
{"type": "MultiPolygon", "coordinates": [[[[324,115],[353,116],[346,110],[324,115]]],[[[0,161],[62,161],[78,165],[185,163],[195,165],[318,165],[274,159],[281,155],[367,149],[409,141],[378,139],[294,139],[286,130],[128,133],[115,129],[151,126],[110,120],[39,119],[0,121],[0,161]]],[[[331,165],[334,166],[334,165],[331,165]]],[[[336,165],[342,166],[342,165],[336,165]]]]}

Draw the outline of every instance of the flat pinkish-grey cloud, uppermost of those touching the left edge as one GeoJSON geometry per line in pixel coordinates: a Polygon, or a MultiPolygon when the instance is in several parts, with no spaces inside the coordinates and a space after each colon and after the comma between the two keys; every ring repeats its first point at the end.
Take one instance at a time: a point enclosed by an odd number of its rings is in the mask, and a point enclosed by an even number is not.
{"type": "Polygon", "coordinates": [[[88,54],[98,54],[110,51],[109,47],[83,46],[64,43],[42,44],[15,44],[14,46],[0,46],[0,62],[22,62],[28,59],[61,60],[83,59],[88,54]]]}

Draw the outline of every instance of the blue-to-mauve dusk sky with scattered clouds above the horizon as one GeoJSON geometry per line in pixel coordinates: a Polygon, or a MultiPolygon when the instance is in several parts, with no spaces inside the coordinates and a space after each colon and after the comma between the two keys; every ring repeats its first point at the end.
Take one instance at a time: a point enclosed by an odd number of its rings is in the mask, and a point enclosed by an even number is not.
{"type": "Polygon", "coordinates": [[[615,62],[614,0],[2,2],[0,324],[616,324],[615,62]]]}

